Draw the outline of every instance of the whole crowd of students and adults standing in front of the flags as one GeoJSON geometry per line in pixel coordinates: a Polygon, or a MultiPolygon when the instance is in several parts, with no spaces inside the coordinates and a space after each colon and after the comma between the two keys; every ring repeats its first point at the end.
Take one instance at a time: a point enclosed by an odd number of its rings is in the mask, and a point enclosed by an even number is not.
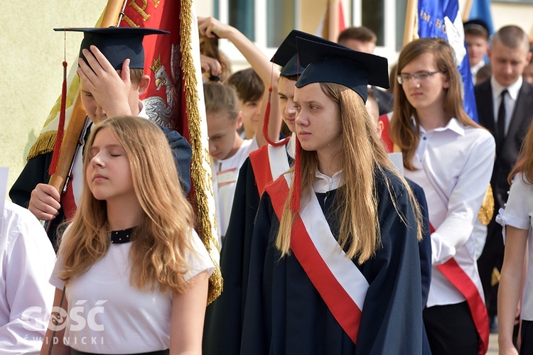
{"type": "Polygon", "coordinates": [[[522,29],[491,38],[483,21],[465,23],[479,124],[445,40],[412,41],[389,73],[367,28],[338,43],[293,30],[271,59],[215,18],[198,29],[222,295],[206,307],[215,265],[187,200],[190,146],[146,114],[142,53],[107,48],[158,31],[84,29],[87,124],[72,187],[61,196],[47,184],[47,154],[10,192],[55,222],[42,256],[23,236],[33,217],[4,209],[0,349],[484,354],[499,326],[500,354],[532,351],[533,85],[522,29]],[[231,73],[217,38],[252,67],[231,73]],[[30,317],[32,306],[42,307],[30,317]]]}

